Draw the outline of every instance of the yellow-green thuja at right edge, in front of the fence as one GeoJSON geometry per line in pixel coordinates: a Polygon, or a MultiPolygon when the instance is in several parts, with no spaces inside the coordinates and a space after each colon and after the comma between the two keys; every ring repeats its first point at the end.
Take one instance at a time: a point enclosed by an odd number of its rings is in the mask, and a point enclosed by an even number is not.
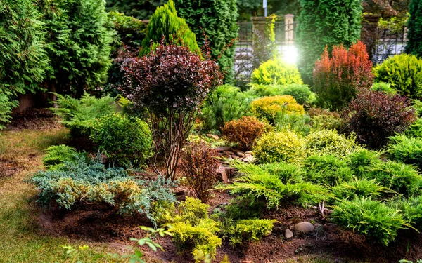
{"type": "Polygon", "coordinates": [[[422,99],[422,60],[415,55],[395,55],[373,69],[375,81],[390,83],[401,95],[422,99]]]}

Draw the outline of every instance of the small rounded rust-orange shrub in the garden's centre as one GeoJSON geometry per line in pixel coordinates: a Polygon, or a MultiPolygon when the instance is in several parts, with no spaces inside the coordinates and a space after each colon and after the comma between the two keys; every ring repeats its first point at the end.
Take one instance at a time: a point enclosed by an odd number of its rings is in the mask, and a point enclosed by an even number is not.
{"type": "Polygon", "coordinates": [[[237,121],[229,121],[224,125],[222,133],[231,142],[236,142],[242,149],[251,149],[255,140],[269,129],[268,123],[254,116],[243,116],[237,121]]]}

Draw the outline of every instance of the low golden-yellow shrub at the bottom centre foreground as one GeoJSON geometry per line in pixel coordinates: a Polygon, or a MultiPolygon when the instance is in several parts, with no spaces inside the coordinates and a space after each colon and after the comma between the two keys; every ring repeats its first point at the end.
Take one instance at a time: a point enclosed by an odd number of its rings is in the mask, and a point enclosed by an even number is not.
{"type": "Polygon", "coordinates": [[[174,245],[180,251],[192,250],[196,262],[202,262],[205,255],[214,258],[217,247],[222,245],[222,239],[217,236],[219,223],[208,217],[209,207],[199,199],[188,197],[180,203],[178,215],[171,223],[174,245]]]}

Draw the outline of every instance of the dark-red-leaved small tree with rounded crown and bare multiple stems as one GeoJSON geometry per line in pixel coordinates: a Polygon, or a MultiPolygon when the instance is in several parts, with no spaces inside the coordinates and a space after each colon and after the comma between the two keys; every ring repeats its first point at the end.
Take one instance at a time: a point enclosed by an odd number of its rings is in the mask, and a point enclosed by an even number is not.
{"type": "Polygon", "coordinates": [[[127,78],[124,95],[149,119],[156,152],[153,165],[161,152],[166,175],[174,179],[198,106],[222,83],[219,67],[188,48],[160,45],[148,56],[128,59],[122,68],[127,78]]]}

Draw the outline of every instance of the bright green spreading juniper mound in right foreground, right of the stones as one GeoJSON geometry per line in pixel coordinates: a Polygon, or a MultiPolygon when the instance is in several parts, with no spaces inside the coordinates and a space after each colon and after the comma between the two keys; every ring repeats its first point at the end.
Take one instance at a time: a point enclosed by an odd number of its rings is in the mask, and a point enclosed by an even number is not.
{"type": "Polygon", "coordinates": [[[342,201],[334,206],[332,217],[336,224],[353,229],[383,245],[394,241],[397,231],[407,223],[399,210],[370,198],[342,201]]]}

